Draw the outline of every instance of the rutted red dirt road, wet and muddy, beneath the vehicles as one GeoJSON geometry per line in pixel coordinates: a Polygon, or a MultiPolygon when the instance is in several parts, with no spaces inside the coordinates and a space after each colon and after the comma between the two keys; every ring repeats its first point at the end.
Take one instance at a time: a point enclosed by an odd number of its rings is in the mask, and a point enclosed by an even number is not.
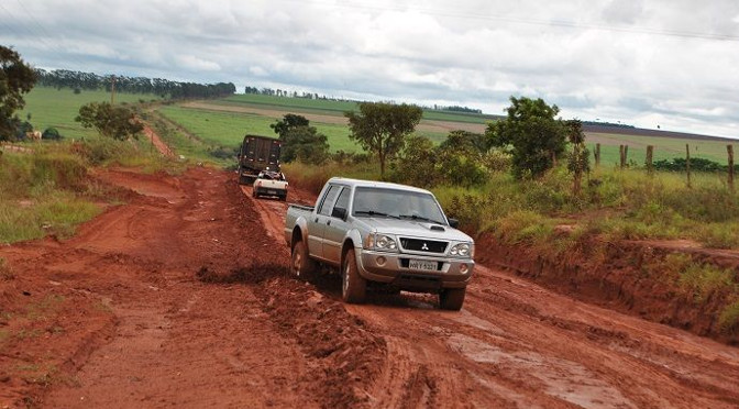
{"type": "Polygon", "coordinates": [[[98,177],[126,203],[0,247],[0,407],[739,407],[736,347],[482,266],[460,312],[343,305],[234,174],[98,177]]]}

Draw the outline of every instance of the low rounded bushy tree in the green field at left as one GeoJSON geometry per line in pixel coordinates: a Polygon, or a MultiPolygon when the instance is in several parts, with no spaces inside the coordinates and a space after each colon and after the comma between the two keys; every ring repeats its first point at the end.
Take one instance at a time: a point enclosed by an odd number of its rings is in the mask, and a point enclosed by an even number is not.
{"type": "Polygon", "coordinates": [[[125,107],[113,107],[108,102],[90,102],[79,108],[75,121],[85,128],[95,128],[102,135],[119,141],[137,137],[144,126],[139,122],[132,110],[125,107]]]}

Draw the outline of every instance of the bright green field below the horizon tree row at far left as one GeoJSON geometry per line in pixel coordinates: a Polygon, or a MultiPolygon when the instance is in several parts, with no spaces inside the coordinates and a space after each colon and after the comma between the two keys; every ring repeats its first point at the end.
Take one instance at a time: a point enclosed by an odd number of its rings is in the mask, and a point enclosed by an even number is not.
{"type": "MultiPolygon", "coordinates": [[[[51,87],[35,87],[25,97],[25,109],[19,112],[19,118],[25,120],[31,114],[33,128],[43,132],[46,128],[56,128],[64,137],[96,137],[95,130],[85,129],[75,117],[79,107],[89,102],[110,101],[110,92],[82,90],[75,93],[71,89],[56,89],[51,87]]],[[[117,103],[133,103],[158,99],[153,95],[115,93],[117,103]]]]}

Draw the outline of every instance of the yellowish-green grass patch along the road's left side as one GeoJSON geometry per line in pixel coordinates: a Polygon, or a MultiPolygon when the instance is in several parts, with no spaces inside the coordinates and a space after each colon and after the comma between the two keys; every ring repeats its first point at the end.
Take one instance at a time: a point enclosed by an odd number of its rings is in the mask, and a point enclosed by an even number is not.
{"type": "Polygon", "coordinates": [[[120,203],[111,190],[88,176],[90,166],[135,166],[143,172],[181,172],[186,164],[150,152],[143,141],[92,139],[33,145],[0,157],[0,243],[54,235],[68,239],[76,226],[120,203]]]}

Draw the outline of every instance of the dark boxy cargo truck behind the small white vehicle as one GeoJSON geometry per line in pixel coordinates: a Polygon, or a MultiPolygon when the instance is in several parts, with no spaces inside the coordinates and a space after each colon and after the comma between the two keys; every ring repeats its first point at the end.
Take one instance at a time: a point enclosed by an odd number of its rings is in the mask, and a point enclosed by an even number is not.
{"type": "Polygon", "coordinates": [[[279,172],[282,145],[279,140],[269,136],[244,136],[239,151],[239,184],[253,184],[262,170],[279,172]]]}

